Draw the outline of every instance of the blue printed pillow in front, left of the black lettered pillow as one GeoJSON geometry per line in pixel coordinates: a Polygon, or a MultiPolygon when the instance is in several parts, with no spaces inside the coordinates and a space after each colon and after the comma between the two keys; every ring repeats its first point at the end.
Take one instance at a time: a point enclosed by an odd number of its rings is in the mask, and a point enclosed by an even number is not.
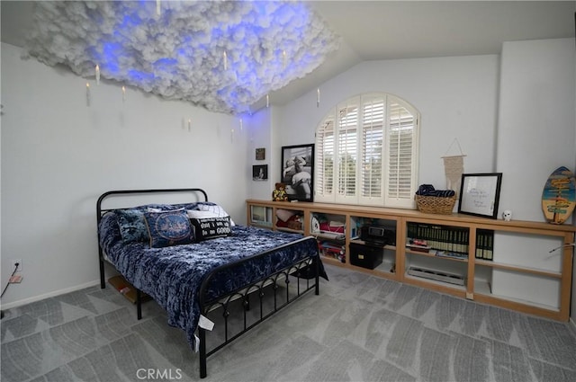
{"type": "Polygon", "coordinates": [[[194,230],[184,209],[144,212],[144,218],[151,248],[194,242],[194,230]]]}

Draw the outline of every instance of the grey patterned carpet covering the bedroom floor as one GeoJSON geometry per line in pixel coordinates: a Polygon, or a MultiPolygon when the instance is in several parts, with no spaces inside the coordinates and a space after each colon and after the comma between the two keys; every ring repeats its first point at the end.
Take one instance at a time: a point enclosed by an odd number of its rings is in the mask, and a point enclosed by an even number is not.
{"type": "MultiPolygon", "coordinates": [[[[208,360],[206,381],[574,381],[571,324],[327,265],[330,281],[208,360]]],[[[110,286],[4,312],[2,380],[199,380],[184,332],[110,286]]]]}

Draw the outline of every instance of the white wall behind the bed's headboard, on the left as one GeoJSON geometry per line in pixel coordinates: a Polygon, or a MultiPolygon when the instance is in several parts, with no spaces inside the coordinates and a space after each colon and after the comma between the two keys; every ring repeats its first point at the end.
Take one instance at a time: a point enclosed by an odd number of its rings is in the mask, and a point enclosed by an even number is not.
{"type": "Polygon", "coordinates": [[[247,129],[238,118],[99,86],[2,44],[3,306],[98,280],[95,201],[103,191],[201,187],[245,221],[247,129]],[[188,131],[187,120],[192,120],[188,131]],[[231,129],[235,129],[232,134],[231,129]]]}

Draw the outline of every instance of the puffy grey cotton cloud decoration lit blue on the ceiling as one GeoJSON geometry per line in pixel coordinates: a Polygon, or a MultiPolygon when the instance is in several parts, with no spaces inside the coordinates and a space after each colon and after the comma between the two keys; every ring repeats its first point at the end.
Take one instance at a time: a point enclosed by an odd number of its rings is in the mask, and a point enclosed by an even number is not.
{"type": "Polygon", "coordinates": [[[339,39],[305,3],[47,1],[25,51],[76,75],[100,76],[238,114],[319,67],[339,39]]]}

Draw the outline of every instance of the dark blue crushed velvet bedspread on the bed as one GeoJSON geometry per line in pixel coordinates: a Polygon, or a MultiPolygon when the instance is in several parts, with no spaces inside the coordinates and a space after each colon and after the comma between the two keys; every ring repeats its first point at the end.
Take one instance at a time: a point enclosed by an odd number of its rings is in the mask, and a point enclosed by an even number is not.
{"type": "MultiPolygon", "coordinates": [[[[168,324],[184,329],[192,347],[200,317],[198,290],[211,270],[302,238],[299,234],[235,226],[232,235],[226,237],[195,244],[149,248],[148,243],[125,244],[113,212],[103,216],[99,230],[100,245],[108,259],[134,287],[166,309],[168,324]]],[[[316,241],[304,240],[262,260],[245,262],[233,275],[222,275],[213,280],[208,299],[260,280],[298,260],[318,255],[316,241]]]]}

